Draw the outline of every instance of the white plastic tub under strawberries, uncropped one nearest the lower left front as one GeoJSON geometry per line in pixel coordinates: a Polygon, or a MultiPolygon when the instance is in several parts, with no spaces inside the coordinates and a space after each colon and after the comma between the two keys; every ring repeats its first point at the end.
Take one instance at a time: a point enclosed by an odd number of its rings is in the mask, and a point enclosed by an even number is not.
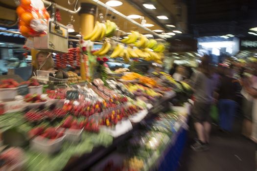
{"type": "Polygon", "coordinates": [[[30,142],[30,148],[32,150],[44,152],[47,154],[55,153],[62,148],[66,135],[63,135],[57,139],[48,139],[41,136],[37,136],[30,142]]]}

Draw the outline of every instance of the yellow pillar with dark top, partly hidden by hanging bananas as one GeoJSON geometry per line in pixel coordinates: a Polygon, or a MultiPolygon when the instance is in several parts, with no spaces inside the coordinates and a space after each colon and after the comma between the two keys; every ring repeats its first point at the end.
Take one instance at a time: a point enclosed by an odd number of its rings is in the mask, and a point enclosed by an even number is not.
{"type": "MultiPolygon", "coordinates": [[[[82,36],[86,36],[93,31],[94,27],[94,15],[96,6],[91,3],[81,3],[80,10],[80,28],[82,36]]],[[[82,38],[83,38],[82,37],[82,38]]],[[[87,80],[87,72],[89,72],[87,67],[88,57],[86,55],[81,56],[80,63],[80,75],[82,80],[87,80]]]]}

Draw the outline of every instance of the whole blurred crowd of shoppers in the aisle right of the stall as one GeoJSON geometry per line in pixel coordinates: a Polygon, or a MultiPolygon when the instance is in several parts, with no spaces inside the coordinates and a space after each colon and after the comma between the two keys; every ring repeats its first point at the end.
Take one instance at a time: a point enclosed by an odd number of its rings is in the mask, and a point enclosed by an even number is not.
{"type": "Polygon", "coordinates": [[[189,83],[194,91],[191,116],[197,138],[193,150],[209,149],[213,106],[218,108],[221,131],[231,132],[234,118],[243,116],[242,134],[257,143],[257,63],[229,61],[215,66],[205,55],[198,68],[173,64],[169,74],[189,83]]]}

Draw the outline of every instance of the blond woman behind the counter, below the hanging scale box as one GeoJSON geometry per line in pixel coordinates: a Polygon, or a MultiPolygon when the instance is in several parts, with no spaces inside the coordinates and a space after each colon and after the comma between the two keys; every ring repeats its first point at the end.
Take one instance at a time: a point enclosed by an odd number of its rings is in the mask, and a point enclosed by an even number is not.
{"type": "Polygon", "coordinates": [[[36,70],[43,71],[55,71],[54,70],[54,61],[52,59],[52,54],[45,51],[40,51],[36,55],[36,61],[33,65],[33,72],[36,70]]]}

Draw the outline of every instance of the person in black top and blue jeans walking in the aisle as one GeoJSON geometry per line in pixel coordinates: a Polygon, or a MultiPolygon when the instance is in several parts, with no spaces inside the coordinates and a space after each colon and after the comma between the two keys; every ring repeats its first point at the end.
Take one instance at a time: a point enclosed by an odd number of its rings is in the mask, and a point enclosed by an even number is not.
{"type": "Polygon", "coordinates": [[[224,74],[220,78],[217,88],[219,94],[219,123],[224,131],[231,131],[234,121],[234,115],[238,104],[237,94],[241,91],[241,85],[238,80],[233,78],[232,68],[223,67],[224,74]]]}

